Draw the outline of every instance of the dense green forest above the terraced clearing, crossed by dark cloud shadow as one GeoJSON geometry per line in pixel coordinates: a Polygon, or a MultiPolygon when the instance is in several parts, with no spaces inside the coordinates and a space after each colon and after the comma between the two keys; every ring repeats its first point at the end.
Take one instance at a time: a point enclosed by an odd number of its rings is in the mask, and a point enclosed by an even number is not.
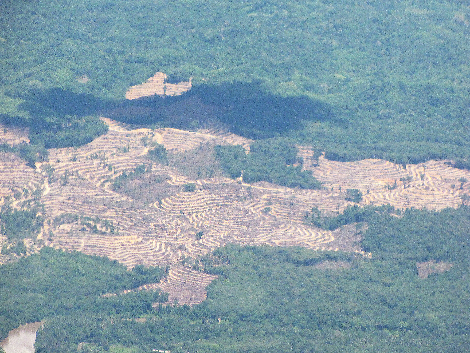
{"type": "Polygon", "coordinates": [[[245,136],[289,136],[335,160],[465,166],[467,5],[7,0],[0,120],[31,126],[38,145],[83,144],[105,131],[100,109],[163,71],[230,107],[221,119],[245,136]]]}

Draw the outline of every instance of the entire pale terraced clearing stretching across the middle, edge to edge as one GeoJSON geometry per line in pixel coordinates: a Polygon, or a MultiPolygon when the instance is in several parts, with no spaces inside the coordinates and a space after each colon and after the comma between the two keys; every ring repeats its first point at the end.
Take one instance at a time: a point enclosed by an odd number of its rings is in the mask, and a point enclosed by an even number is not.
{"type": "MultiPolygon", "coordinates": [[[[46,221],[36,241],[25,241],[28,251],[46,244],[107,256],[129,267],[169,265],[167,280],[158,286],[170,293],[171,301],[178,299],[180,304],[204,300],[204,288],[212,279],[183,265],[182,259],[196,259],[228,242],[362,253],[358,247],[360,234],[353,225],[329,232],[303,223],[313,207],[334,215],[352,205],[345,201],[347,188],[364,193],[361,204],[441,209],[458,206],[460,196],[470,186],[469,182],[459,182],[470,180],[470,173],[445,161],[403,168],[384,160],[341,163],[320,157],[318,166],[314,166],[313,151],[306,147],[299,147],[304,168],[324,183],[322,190],[291,189],[266,182],[248,185],[223,177],[189,180],[178,170],[147,159],[149,143],[164,144],[174,153],[207,142],[242,144],[248,152],[251,141],[228,133],[221,123],[190,132],[132,129],[102,119],[110,126],[106,135],[82,147],[51,149],[49,162],[38,164],[36,169],[11,153],[2,153],[1,200],[18,190],[30,191],[22,195],[40,195],[46,221]],[[148,196],[153,195],[150,187],[149,192],[141,189],[141,197],[114,190],[113,183],[123,172],[130,173],[141,164],[149,171],[140,177],[156,178],[155,187],[164,190],[164,198],[148,196]],[[196,185],[194,192],[184,191],[187,183],[196,185]]],[[[24,131],[17,136],[16,130],[1,128],[11,135],[10,143],[24,136],[24,131]]],[[[26,196],[15,202],[24,200],[26,196]]]]}

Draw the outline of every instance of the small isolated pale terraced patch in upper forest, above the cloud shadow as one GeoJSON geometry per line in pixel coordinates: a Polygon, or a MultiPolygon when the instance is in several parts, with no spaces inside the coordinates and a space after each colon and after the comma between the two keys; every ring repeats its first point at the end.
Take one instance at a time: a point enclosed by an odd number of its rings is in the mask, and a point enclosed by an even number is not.
{"type": "Polygon", "coordinates": [[[127,99],[138,99],[147,96],[178,96],[191,88],[189,82],[180,82],[177,84],[165,83],[166,75],[163,72],[157,72],[146,82],[132,86],[125,93],[127,99]]]}

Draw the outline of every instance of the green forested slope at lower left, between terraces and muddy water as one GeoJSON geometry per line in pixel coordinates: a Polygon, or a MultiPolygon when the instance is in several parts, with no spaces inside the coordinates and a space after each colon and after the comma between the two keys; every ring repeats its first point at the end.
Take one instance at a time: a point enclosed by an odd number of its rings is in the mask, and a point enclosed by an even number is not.
{"type": "MultiPolygon", "coordinates": [[[[88,313],[141,315],[164,298],[138,292],[114,297],[146,283],[160,281],[164,269],[125,266],[104,257],[43,248],[39,253],[0,266],[0,338],[22,323],[55,315],[88,313]]],[[[163,300],[164,301],[164,300],[163,300]]]]}

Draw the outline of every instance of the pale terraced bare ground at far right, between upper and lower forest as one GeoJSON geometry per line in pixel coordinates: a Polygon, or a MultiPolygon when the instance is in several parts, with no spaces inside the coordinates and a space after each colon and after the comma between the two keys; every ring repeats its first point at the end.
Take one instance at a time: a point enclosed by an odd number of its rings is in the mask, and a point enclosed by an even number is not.
{"type": "Polygon", "coordinates": [[[321,156],[317,163],[312,149],[302,146],[299,149],[306,170],[311,170],[313,176],[338,196],[344,195],[346,188],[359,189],[364,194],[363,205],[390,203],[398,208],[455,208],[462,204],[462,197],[470,187],[470,171],[453,168],[446,160],[408,164],[406,168],[378,159],[337,162],[321,156]]]}

